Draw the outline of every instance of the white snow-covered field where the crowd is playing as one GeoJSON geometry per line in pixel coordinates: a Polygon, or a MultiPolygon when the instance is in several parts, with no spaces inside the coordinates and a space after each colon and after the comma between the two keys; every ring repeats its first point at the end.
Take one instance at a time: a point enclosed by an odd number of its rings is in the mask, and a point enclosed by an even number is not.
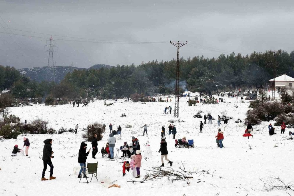
{"type": "MultiPolygon", "coordinates": [[[[191,94],[193,95],[193,94],[191,94]]],[[[271,96],[271,93],[269,93],[271,96]]],[[[217,97],[216,95],[213,95],[217,97]]],[[[276,96],[277,97],[277,96],[276,96]]],[[[193,97],[192,97],[193,98],[193,97]]],[[[166,97],[163,97],[166,99],[166,97]]],[[[72,107],[72,105],[44,106],[38,104],[31,107],[10,108],[11,114],[21,118],[28,123],[37,117],[48,120],[49,127],[58,130],[60,127],[66,129],[74,128],[79,124],[78,135],[73,133],[54,135],[19,135],[17,139],[3,140],[0,142],[0,195],[294,195],[292,190],[275,190],[271,192],[263,191],[263,182],[260,179],[268,176],[280,177],[285,183],[293,182],[293,140],[289,138],[289,130],[285,134],[280,134],[280,127],[276,127],[276,135],[268,135],[268,122],[263,122],[259,126],[253,126],[254,137],[242,137],[246,126],[243,123],[235,123],[240,118],[244,122],[245,113],[249,109],[249,101],[241,102],[236,98],[224,97],[225,103],[219,104],[197,104],[188,106],[188,98],[180,99],[179,118],[173,117],[174,99],[172,103],[132,103],[123,102],[118,99],[112,106],[104,106],[104,101],[90,102],[87,107],[72,107]],[[235,105],[238,106],[235,107],[235,105]],[[172,107],[172,114],[164,114],[164,107],[172,107]],[[218,114],[223,110],[227,111],[227,116],[233,117],[224,125],[220,125],[224,131],[224,148],[217,148],[215,136],[218,126],[216,120],[212,124],[205,124],[203,133],[199,133],[199,118],[193,118],[198,110],[203,111],[202,116],[211,112],[212,117],[217,119],[218,114]],[[120,117],[125,113],[126,117],[120,117]],[[177,128],[176,138],[194,139],[194,148],[175,148],[174,140],[168,136],[168,120],[177,128]],[[178,122],[178,119],[181,122],[178,122]],[[86,128],[88,124],[94,122],[106,124],[106,133],[98,142],[97,159],[94,160],[91,153],[88,162],[98,161],[98,180],[93,179],[91,183],[79,183],[77,172],[80,169],[77,154],[81,138],[81,128],[86,128]],[[198,172],[193,174],[193,179],[188,181],[170,181],[167,177],[161,180],[145,181],[145,183],[132,184],[131,172],[126,172],[122,176],[122,161],[113,161],[101,157],[101,148],[105,147],[108,139],[108,125],[113,124],[113,130],[121,125],[121,137],[116,141],[119,148],[123,142],[131,143],[132,136],[139,139],[142,156],[144,157],[146,141],[150,141],[152,157],[142,159],[141,177],[146,174],[144,169],[161,165],[160,148],[161,127],[165,125],[168,158],[173,161],[173,169],[180,170],[182,163],[187,171],[198,172]],[[144,124],[148,127],[148,136],[143,136],[144,124]],[[126,125],[133,128],[126,128],[126,125]],[[257,131],[259,130],[259,131],[257,131]],[[9,157],[13,146],[18,144],[23,146],[23,137],[29,138],[31,147],[29,157],[19,155],[9,157]],[[54,165],[53,176],[55,180],[41,181],[43,161],[41,159],[43,151],[43,141],[47,138],[53,139],[52,150],[55,158],[52,159],[54,165]],[[200,172],[206,170],[206,172],[200,172]],[[213,174],[213,175],[212,175],[213,174]],[[200,182],[199,182],[200,181],[200,182]],[[103,182],[103,183],[102,183],[103,182]],[[187,183],[188,182],[188,183],[187,183]],[[120,185],[121,188],[108,188],[112,184],[120,185]],[[133,193],[132,193],[133,192],[133,193]],[[288,194],[289,193],[289,194],[288,194]]],[[[112,100],[106,103],[114,102],[112,100]]],[[[207,121],[208,122],[208,121],[207,121]]],[[[273,121],[270,123],[274,123],[273,121]]],[[[291,130],[293,131],[293,130],[291,130]]],[[[171,136],[171,135],[170,135],[171,136]]],[[[91,147],[91,142],[87,142],[91,147]]],[[[116,150],[115,150],[116,152],[116,150]]],[[[119,157],[122,152],[119,152],[119,157]]],[[[165,161],[165,166],[169,164],[165,161]]],[[[182,167],[183,168],[183,167],[182,167]]],[[[45,177],[49,177],[49,167],[45,177]]],[[[82,179],[83,180],[83,179],[82,179]]]]}

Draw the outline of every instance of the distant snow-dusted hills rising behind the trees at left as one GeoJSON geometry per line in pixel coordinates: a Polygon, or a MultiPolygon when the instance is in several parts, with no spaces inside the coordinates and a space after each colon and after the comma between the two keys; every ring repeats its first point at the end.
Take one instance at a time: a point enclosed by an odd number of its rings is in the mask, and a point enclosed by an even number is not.
{"type": "MultiPolygon", "coordinates": [[[[100,68],[110,68],[110,65],[97,64],[93,65],[88,69],[100,69],[100,68]]],[[[33,68],[23,68],[19,69],[21,74],[24,74],[26,77],[29,77],[32,80],[36,80],[37,82],[41,82],[43,80],[46,81],[54,81],[59,83],[64,79],[67,73],[71,73],[74,70],[86,70],[87,68],[80,67],[65,67],[65,66],[54,66],[54,67],[33,67],[33,68]],[[48,70],[48,71],[47,71],[48,70]],[[48,74],[47,74],[48,73],[48,74]]]]}

